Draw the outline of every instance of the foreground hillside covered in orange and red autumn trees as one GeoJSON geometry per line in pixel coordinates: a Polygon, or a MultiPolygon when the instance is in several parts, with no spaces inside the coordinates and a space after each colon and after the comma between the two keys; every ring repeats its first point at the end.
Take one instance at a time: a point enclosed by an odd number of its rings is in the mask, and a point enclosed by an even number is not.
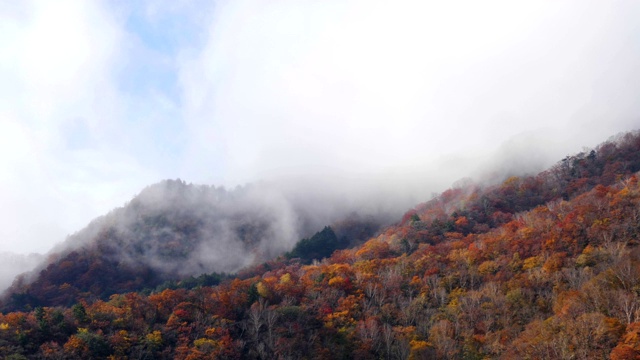
{"type": "Polygon", "coordinates": [[[313,264],[339,243],[330,228],[216,286],[4,313],[0,354],[636,359],[639,170],[627,134],[537,176],[448,190],[313,264]]]}

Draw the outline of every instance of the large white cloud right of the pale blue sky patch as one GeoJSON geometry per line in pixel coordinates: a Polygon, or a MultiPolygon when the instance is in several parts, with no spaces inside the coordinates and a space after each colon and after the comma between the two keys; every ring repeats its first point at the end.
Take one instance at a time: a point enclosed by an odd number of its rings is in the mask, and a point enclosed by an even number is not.
{"type": "Polygon", "coordinates": [[[181,69],[190,154],[222,164],[220,181],[423,181],[443,157],[468,172],[522,133],[562,133],[559,151],[575,151],[637,120],[631,3],[223,4],[181,69]]]}

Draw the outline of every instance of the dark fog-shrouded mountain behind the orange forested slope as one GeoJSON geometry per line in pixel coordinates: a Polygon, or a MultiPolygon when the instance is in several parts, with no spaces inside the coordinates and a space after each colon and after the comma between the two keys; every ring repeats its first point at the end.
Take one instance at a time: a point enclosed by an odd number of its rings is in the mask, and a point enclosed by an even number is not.
{"type": "Polygon", "coordinates": [[[325,204],[287,195],[267,184],[232,191],[180,180],[149,186],[18,277],[4,309],[68,306],[189,276],[232,273],[290,250],[332,221],[344,241],[365,240],[386,221],[379,214],[325,211],[325,204]]]}

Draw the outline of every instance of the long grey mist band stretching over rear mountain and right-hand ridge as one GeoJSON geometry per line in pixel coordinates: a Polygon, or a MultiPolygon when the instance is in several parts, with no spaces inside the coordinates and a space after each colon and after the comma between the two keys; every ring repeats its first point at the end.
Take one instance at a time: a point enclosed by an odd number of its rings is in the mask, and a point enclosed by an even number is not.
{"type": "MultiPolygon", "coordinates": [[[[336,222],[368,222],[381,228],[451,186],[537,173],[567,154],[566,144],[543,135],[514,137],[489,157],[444,157],[415,169],[356,174],[317,168],[233,189],[165,180],[69,236],[23,279],[35,279],[73,251],[93,252],[91,256],[114,264],[145,266],[168,277],[235,272],[282,255],[300,239],[336,222]]],[[[0,273],[2,288],[44,257],[29,259],[28,266],[0,273]]]]}

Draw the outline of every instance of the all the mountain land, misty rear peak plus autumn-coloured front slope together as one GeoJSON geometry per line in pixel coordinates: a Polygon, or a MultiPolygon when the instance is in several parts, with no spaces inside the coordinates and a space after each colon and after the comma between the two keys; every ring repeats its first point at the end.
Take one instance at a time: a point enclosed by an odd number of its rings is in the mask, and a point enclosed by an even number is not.
{"type": "Polygon", "coordinates": [[[639,171],[635,131],[403,215],[162,181],[14,280],[0,354],[635,359],[639,171]]]}

